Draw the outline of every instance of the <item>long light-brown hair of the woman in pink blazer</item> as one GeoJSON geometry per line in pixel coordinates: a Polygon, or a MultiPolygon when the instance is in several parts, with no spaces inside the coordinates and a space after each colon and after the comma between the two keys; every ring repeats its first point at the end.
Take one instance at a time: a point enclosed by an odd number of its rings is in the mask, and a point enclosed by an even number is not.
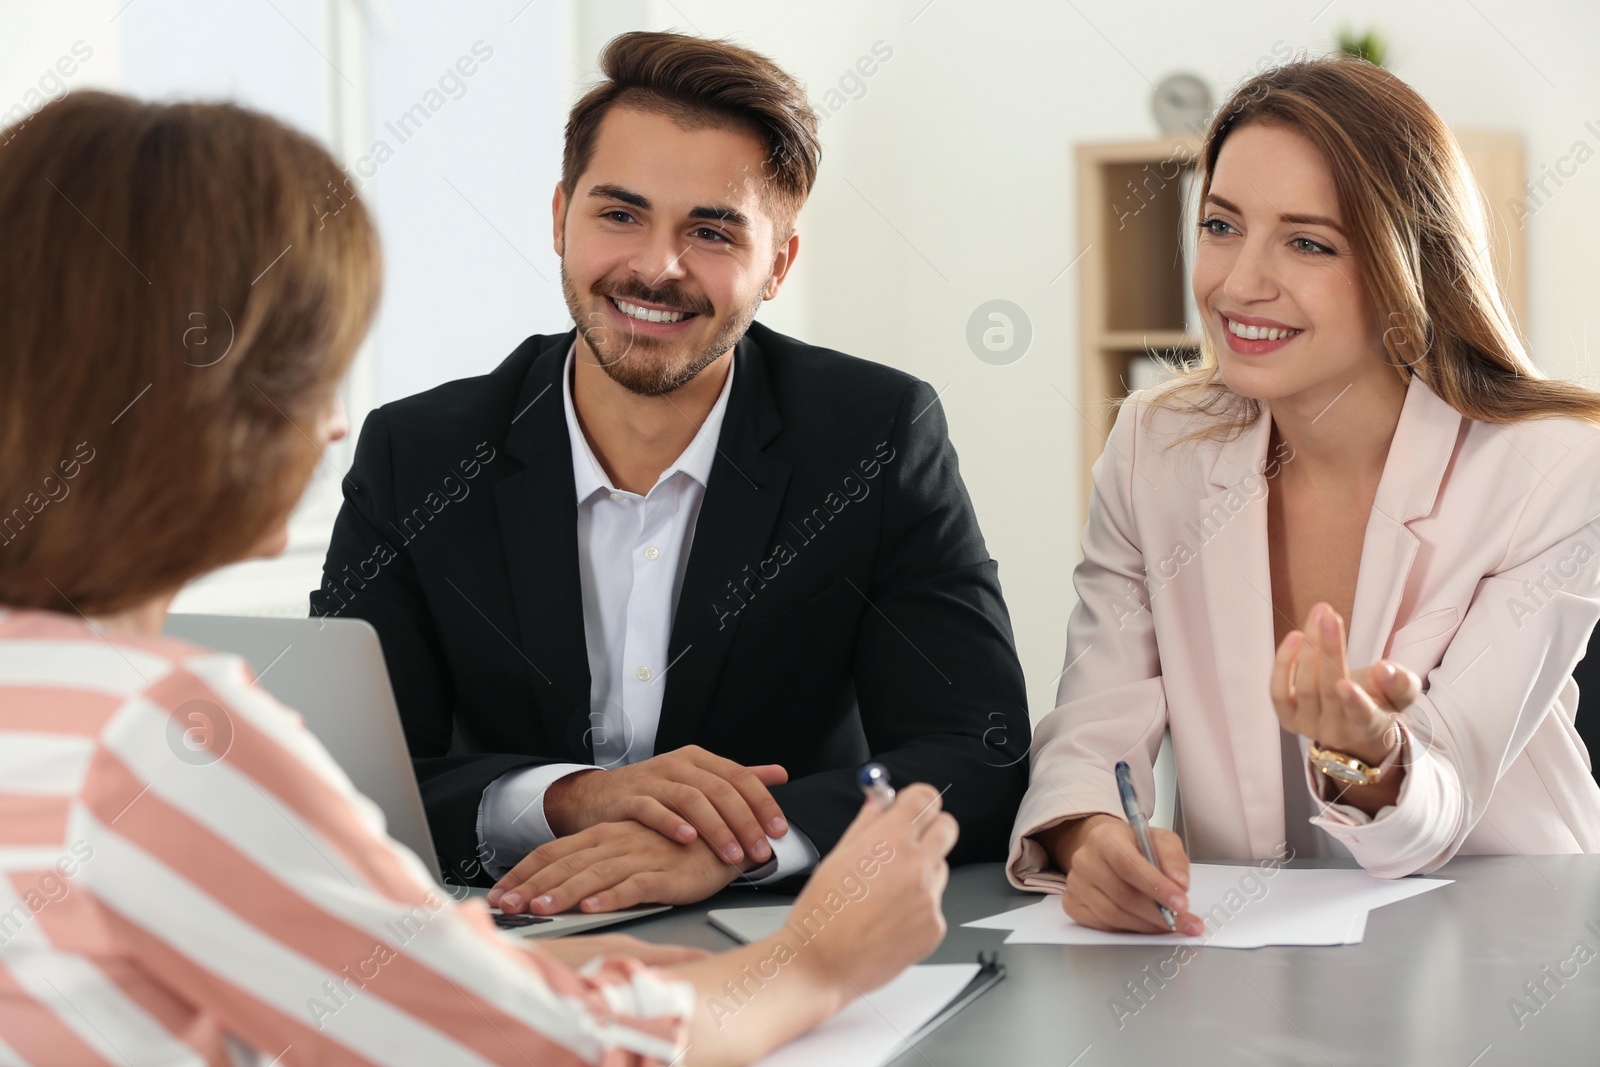
{"type": "MultiPolygon", "coordinates": [[[[1250,123],[1282,126],[1322,152],[1339,214],[1384,326],[1384,354],[1469,419],[1576,416],[1600,422],[1600,394],[1546,378],[1528,358],[1490,262],[1488,218],[1456,138],[1411,86],[1354,56],[1301,59],[1245,82],[1200,149],[1195,224],[1216,158],[1250,123]]],[[[1200,363],[1154,395],[1160,408],[1211,416],[1189,438],[1235,437],[1259,414],[1221,381],[1202,333],[1200,363]]]]}

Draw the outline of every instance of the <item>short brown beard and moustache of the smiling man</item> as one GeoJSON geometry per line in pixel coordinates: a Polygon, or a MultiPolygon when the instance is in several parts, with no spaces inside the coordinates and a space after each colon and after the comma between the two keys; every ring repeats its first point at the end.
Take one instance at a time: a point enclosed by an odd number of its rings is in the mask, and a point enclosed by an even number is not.
{"type": "MultiPolygon", "coordinates": [[[[765,291],[765,288],[763,283],[762,290],[765,291]]],[[[608,283],[602,278],[595,282],[592,293],[600,299],[616,296],[624,301],[666,304],[706,318],[712,315],[709,302],[688,298],[677,288],[651,290],[632,280],[608,283]]],[[[622,331],[613,328],[610,320],[594,322],[603,312],[595,314],[584,307],[578,286],[566,274],[565,262],[562,264],[562,294],[566,298],[568,314],[578,323],[578,333],[582,334],[589,350],[600,362],[600,370],[618,386],[640,397],[664,397],[688,386],[723,352],[739,342],[762,306],[762,298],[757,296],[749,307],[741,307],[730,315],[704,349],[678,357],[674,350],[682,344],[680,341],[666,341],[634,330],[622,331]]]]}

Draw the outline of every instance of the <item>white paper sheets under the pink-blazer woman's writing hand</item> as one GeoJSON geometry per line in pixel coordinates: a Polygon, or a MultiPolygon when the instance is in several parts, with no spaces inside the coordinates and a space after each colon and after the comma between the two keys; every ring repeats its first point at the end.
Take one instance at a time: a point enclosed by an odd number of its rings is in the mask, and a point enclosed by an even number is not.
{"type": "Polygon", "coordinates": [[[1189,869],[1189,910],[1206,923],[1198,937],[1184,934],[1126,934],[1078,926],[1051,894],[965,926],[1008,929],[1006,944],[1150,945],[1190,944],[1218,949],[1264,945],[1360,944],[1366,913],[1429,889],[1446,878],[1374,878],[1365,870],[1283,870],[1194,864],[1189,869]]]}

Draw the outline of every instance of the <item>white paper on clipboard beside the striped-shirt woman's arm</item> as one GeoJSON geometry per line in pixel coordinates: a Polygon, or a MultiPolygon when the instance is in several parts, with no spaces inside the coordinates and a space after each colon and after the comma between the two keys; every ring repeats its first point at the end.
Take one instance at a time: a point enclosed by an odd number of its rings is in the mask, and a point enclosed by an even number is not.
{"type": "Polygon", "coordinates": [[[978,974],[976,963],[914,966],[883,989],[797,1037],[757,1067],[878,1067],[904,1051],[906,1038],[944,1011],[978,974]]]}

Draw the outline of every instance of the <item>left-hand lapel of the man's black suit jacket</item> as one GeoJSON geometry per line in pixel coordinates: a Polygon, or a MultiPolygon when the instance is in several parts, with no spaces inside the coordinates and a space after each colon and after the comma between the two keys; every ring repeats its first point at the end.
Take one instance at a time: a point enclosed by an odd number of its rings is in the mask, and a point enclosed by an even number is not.
{"type": "Polygon", "coordinates": [[[494,486],[517,633],[552,757],[590,761],[589,651],[578,577],[578,490],[562,406],[562,368],[576,331],[528,368],[506,453],[523,464],[494,486]]]}

